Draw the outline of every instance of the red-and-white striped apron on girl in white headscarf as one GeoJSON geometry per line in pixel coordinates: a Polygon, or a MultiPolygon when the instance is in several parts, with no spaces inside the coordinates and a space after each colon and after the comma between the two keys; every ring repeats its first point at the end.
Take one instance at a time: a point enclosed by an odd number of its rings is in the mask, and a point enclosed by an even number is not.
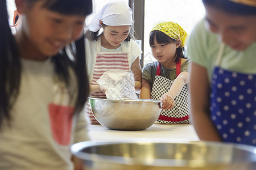
{"type": "MultiPolygon", "coordinates": [[[[122,45],[121,45],[121,49],[122,45]]],[[[97,52],[96,52],[96,63],[93,72],[93,78],[91,85],[98,84],[96,81],[100,79],[101,75],[108,70],[117,69],[122,71],[130,71],[128,52],[100,52],[101,41],[97,41],[97,52]]],[[[93,70],[92,70],[93,71],[93,70]]],[[[106,98],[104,92],[95,92],[89,97],[106,98]]],[[[85,116],[90,120],[90,124],[99,124],[96,118],[93,116],[92,110],[90,109],[89,101],[85,103],[85,116]]]]}

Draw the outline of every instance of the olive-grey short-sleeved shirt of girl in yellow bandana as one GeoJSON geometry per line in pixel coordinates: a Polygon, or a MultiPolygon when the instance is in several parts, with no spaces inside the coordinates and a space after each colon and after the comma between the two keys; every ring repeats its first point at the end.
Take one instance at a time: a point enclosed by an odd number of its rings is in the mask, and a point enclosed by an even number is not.
{"type": "MultiPolygon", "coordinates": [[[[180,67],[180,73],[182,71],[188,72],[190,59],[187,59],[180,67]]],[[[159,62],[148,63],[143,67],[142,70],[142,78],[146,79],[148,83],[150,83],[151,88],[155,81],[156,69],[158,67],[159,62]]],[[[175,80],[177,78],[176,69],[166,69],[163,65],[161,66],[161,76],[168,78],[169,80],[175,80]]]]}

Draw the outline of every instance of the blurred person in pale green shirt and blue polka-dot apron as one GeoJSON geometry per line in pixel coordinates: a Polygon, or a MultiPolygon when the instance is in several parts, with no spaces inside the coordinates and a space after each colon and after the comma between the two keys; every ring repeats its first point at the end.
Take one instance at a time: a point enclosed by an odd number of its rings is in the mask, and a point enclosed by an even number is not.
{"type": "Polygon", "coordinates": [[[203,3],[187,48],[193,125],[201,140],[256,146],[256,1],[203,3]]]}

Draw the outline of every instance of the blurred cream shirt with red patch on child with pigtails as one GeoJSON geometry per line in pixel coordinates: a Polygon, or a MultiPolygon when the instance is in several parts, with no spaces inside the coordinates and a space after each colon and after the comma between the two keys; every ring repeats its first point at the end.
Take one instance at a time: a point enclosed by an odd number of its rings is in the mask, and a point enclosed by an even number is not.
{"type": "Polygon", "coordinates": [[[71,170],[71,145],[89,140],[85,118],[83,114],[65,117],[75,101],[56,81],[50,59],[21,61],[20,89],[11,110],[11,127],[4,122],[0,131],[0,169],[71,170]],[[64,112],[56,111],[58,105],[64,112]]]}

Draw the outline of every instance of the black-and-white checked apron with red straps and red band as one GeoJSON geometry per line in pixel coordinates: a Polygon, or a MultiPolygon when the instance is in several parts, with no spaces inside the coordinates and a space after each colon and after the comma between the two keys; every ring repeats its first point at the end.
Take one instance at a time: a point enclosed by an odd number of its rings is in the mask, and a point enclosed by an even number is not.
{"type": "MultiPolygon", "coordinates": [[[[181,62],[180,59],[176,63],[176,75],[180,74],[181,62]]],[[[166,94],[171,86],[174,83],[174,80],[169,80],[163,76],[161,76],[161,63],[156,69],[155,81],[151,91],[151,99],[159,100],[161,96],[166,94]]],[[[189,98],[188,98],[188,90],[187,86],[184,86],[174,99],[174,107],[161,111],[160,116],[157,122],[161,124],[189,124],[189,98]]]]}

